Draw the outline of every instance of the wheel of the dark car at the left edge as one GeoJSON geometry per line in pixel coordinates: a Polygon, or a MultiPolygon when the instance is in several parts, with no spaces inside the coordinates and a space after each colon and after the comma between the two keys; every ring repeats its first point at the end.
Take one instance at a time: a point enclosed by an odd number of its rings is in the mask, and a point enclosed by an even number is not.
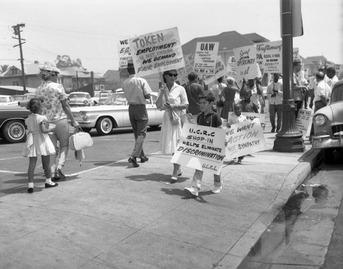
{"type": "Polygon", "coordinates": [[[3,126],[2,136],[10,143],[20,143],[26,138],[24,121],[12,119],[3,126]]]}

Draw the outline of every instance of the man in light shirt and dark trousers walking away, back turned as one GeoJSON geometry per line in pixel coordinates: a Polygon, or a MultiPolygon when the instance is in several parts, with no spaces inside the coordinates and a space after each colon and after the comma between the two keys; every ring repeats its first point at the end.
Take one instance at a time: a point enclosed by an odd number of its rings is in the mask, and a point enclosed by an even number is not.
{"type": "Polygon", "coordinates": [[[123,81],[121,88],[123,89],[126,100],[128,100],[128,113],[130,123],[134,133],[134,149],[128,159],[133,167],[139,167],[137,158],[141,159],[141,163],[145,163],[149,158],[143,150],[143,143],[147,132],[147,108],[145,107],[146,100],[150,98],[149,84],[144,78],[137,78],[132,62],[128,63],[129,77],[123,81]]]}

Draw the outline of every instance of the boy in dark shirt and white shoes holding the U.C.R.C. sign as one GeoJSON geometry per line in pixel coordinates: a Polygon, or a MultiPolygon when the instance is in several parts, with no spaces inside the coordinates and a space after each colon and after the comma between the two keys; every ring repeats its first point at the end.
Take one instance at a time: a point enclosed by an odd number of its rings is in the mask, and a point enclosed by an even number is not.
{"type": "MultiPolygon", "coordinates": [[[[198,115],[197,118],[197,124],[202,126],[209,126],[214,128],[223,128],[222,126],[222,119],[220,119],[220,116],[213,111],[213,103],[215,100],[215,97],[212,93],[207,93],[205,95],[200,95],[200,109],[202,110],[202,113],[198,115]]],[[[196,169],[196,172],[194,172],[193,180],[191,182],[190,188],[185,188],[184,190],[187,192],[187,194],[191,194],[193,198],[198,197],[198,192],[200,191],[201,187],[201,181],[202,176],[204,175],[204,172],[201,170],[196,169]]],[[[219,194],[220,191],[222,191],[222,178],[219,175],[213,174],[213,180],[214,180],[214,187],[212,190],[213,194],[219,194]]]]}

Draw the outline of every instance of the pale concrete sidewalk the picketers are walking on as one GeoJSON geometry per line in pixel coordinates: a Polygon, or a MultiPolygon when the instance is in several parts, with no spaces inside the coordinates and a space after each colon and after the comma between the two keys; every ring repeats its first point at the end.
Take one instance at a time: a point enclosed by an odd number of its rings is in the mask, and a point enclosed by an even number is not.
{"type": "Polygon", "coordinates": [[[274,152],[270,130],[268,150],[225,162],[220,194],[205,173],[189,198],[193,169],[170,184],[171,156],[151,154],[0,198],[0,268],[237,268],[319,157],[274,152]]]}

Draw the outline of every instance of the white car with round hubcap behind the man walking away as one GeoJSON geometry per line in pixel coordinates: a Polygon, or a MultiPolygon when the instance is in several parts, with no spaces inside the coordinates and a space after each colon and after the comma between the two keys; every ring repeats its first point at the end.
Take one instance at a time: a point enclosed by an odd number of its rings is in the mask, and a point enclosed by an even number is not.
{"type": "MultiPolygon", "coordinates": [[[[156,108],[157,93],[151,93],[147,100],[148,126],[161,125],[164,111],[156,108]]],[[[78,121],[82,130],[89,132],[96,128],[99,134],[110,134],[113,128],[131,127],[128,115],[128,101],[124,93],[114,93],[101,106],[87,108],[71,108],[73,116],[78,121]]]]}

